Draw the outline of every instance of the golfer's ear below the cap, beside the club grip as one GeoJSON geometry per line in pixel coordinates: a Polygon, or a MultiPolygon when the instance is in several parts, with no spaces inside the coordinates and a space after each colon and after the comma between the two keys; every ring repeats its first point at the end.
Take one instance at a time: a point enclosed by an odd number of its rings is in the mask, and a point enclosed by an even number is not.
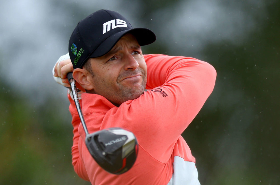
{"type": "Polygon", "coordinates": [[[86,90],[92,90],[93,84],[90,81],[89,72],[85,69],[76,68],[73,71],[73,78],[78,82],[81,87],[83,87],[86,90]]]}

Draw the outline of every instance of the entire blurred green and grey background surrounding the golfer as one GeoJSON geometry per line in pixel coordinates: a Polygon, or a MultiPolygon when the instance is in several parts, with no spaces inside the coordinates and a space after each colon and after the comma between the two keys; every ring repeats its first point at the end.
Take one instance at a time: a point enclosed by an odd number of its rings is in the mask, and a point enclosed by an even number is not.
{"type": "Polygon", "coordinates": [[[280,1],[1,1],[0,184],[89,184],[71,164],[66,89],[52,68],[79,20],[115,10],[144,53],[212,64],[213,93],[183,133],[201,184],[280,184],[280,1]]]}

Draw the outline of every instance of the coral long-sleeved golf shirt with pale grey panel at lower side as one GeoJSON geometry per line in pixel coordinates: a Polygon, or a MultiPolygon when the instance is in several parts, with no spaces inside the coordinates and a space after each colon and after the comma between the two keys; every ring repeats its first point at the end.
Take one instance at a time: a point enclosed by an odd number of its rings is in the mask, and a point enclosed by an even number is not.
{"type": "Polygon", "coordinates": [[[84,93],[81,106],[89,133],[109,127],[132,131],[139,143],[133,167],[109,174],[85,146],[85,132],[74,101],[69,110],[74,127],[75,172],[92,184],[199,184],[195,158],[181,136],[214,88],[216,71],[206,62],[182,56],[144,55],[147,85],[139,98],[114,106],[97,94],[84,93]]]}

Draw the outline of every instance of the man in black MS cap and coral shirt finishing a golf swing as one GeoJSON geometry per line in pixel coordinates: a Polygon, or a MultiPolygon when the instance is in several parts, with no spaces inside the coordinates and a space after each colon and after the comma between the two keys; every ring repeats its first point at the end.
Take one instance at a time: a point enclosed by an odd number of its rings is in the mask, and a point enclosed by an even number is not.
{"type": "Polygon", "coordinates": [[[66,55],[54,67],[57,81],[65,85],[66,74],[73,71],[78,87],[87,92],[80,97],[89,133],[121,127],[139,143],[128,172],[103,170],[85,146],[85,132],[68,95],[74,170],[92,184],[200,184],[195,158],[181,133],[213,91],[216,71],[195,58],[143,55],[140,46],[154,41],[151,30],[132,29],[120,14],[99,10],[74,29],[72,62],[66,55]]]}

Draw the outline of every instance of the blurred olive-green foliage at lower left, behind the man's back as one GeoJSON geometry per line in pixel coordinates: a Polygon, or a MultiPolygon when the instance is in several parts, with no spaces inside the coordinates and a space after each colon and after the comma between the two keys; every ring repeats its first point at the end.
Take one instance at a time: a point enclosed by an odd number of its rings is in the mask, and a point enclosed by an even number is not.
{"type": "Polygon", "coordinates": [[[16,92],[2,83],[0,184],[87,184],[71,165],[70,113],[62,116],[53,97],[34,105],[16,92]]]}

